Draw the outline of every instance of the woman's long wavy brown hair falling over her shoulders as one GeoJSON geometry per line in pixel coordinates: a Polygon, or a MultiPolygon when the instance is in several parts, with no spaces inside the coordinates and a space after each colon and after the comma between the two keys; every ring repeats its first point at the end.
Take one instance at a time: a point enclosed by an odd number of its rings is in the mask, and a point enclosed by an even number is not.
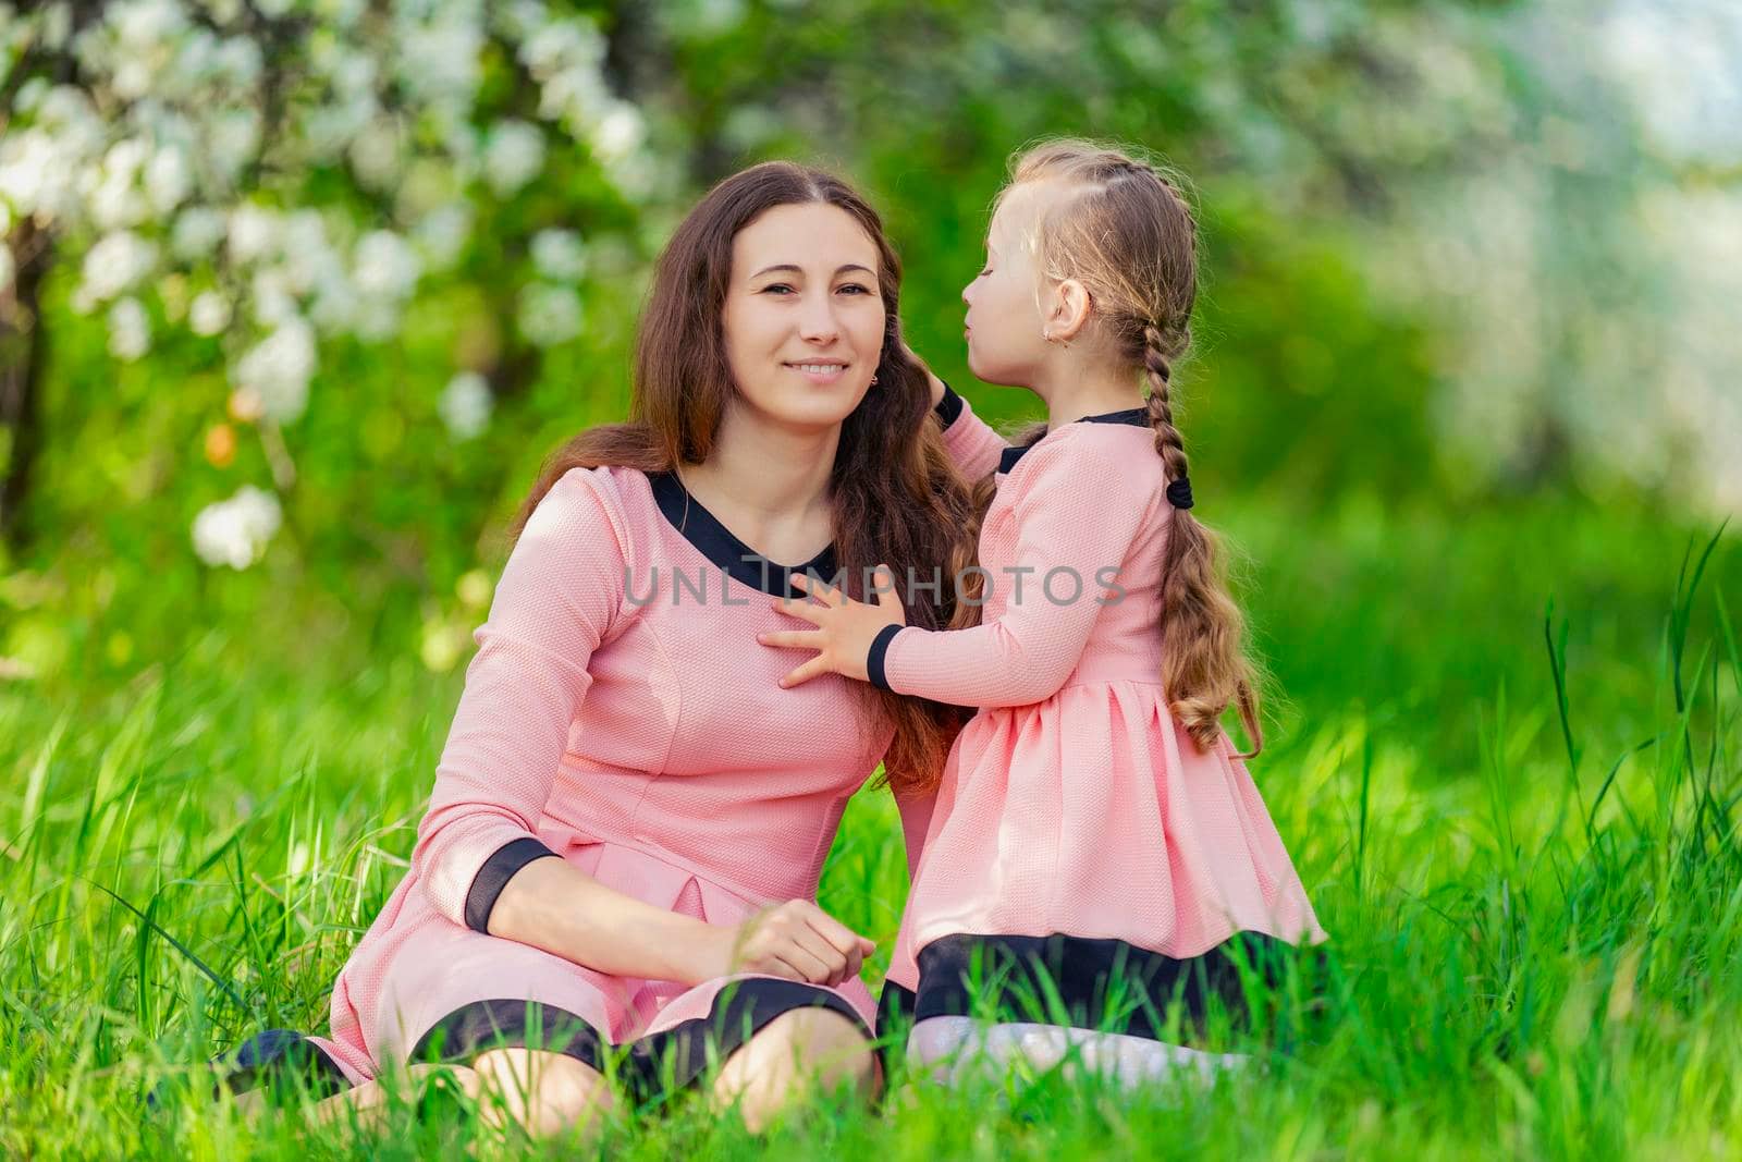
{"type": "MultiPolygon", "coordinates": [[[[570,469],[615,465],[669,472],[702,463],[714,449],[719,422],[737,385],[726,362],[725,301],[732,280],[732,240],[775,206],[824,202],[854,216],[878,249],[883,298],[883,352],[876,385],[841,422],[829,477],[834,505],[834,556],[847,589],[864,599],[866,571],[881,563],[897,578],[955,577],[974,561],[972,498],[949,462],[935,423],[925,369],[901,343],[901,260],[883,235],[876,211],[840,178],[765,162],[712,190],[678,226],[653,274],[636,338],[634,388],[627,423],[591,427],[559,448],[538,474],[512,524],[519,537],[550,486],[570,469]]],[[[948,627],[956,617],[949,584],[935,598],[902,585],[909,625],[948,627]]],[[[895,737],[883,756],[883,779],[895,791],[937,786],[963,714],[955,707],[862,686],[862,709],[892,721],[895,737]]]]}

